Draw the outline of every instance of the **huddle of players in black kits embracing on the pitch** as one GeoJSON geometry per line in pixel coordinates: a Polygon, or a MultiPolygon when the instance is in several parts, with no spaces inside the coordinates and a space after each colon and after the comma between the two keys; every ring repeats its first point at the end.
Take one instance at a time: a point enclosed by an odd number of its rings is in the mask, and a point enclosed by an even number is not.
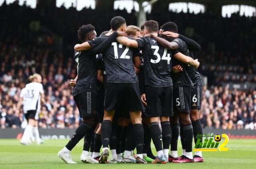
{"type": "Polygon", "coordinates": [[[154,20],[126,27],[116,16],[110,25],[97,38],[91,24],[78,30],[83,43],[74,46],[78,76],[70,85],[82,123],[58,157],[76,163],[70,151],[84,137],[85,163],[203,162],[202,151],[192,155],[193,136],[196,142],[202,134],[202,80],[193,58],[200,45],[178,34],[174,22],[160,30],[154,20]]]}

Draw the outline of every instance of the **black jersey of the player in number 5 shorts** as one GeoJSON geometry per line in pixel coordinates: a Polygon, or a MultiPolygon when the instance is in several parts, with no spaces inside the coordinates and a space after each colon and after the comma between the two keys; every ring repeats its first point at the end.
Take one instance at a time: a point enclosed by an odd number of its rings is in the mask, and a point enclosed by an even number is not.
{"type": "MultiPolygon", "coordinates": [[[[182,54],[184,54],[186,56],[189,56],[188,55],[187,45],[186,45],[186,43],[183,40],[181,40],[179,38],[176,38],[172,42],[176,42],[178,44],[178,50],[182,54]]],[[[190,74],[189,74],[190,67],[194,68],[194,66],[190,66],[190,65],[184,64],[183,62],[180,62],[179,60],[177,60],[175,58],[172,58],[172,65],[173,66],[180,65],[183,68],[182,72],[172,73],[173,89],[175,89],[175,88],[177,88],[179,86],[182,86],[182,85],[186,85],[188,87],[194,88],[194,85],[192,83],[192,80],[191,80],[190,74]]]]}

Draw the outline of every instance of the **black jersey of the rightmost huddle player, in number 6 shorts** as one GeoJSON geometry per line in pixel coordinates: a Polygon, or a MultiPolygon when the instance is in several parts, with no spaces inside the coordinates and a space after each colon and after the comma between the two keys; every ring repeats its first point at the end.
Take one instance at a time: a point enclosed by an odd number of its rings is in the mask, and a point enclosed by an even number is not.
{"type": "MultiPolygon", "coordinates": [[[[188,50],[188,56],[194,59],[193,52],[188,50]]],[[[203,85],[202,78],[198,72],[198,70],[194,66],[190,66],[188,69],[189,76],[193,82],[194,87],[198,85],[203,85]]]]}

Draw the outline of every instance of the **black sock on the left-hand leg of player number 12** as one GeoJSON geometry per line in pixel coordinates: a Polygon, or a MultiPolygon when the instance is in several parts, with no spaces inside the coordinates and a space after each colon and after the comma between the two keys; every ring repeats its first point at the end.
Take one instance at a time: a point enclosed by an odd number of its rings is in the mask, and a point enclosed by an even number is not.
{"type": "Polygon", "coordinates": [[[110,134],[112,130],[112,121],[104,120],[101,123],[101,142],[104,147],[108,147],[110,134]]]}

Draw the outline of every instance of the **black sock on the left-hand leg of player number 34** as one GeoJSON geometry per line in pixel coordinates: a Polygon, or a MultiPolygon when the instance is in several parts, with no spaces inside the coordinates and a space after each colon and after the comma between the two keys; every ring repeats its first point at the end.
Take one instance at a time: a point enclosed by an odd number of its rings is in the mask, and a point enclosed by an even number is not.
{"type": "Polygon", "coordinates": [[[156,147],[156,151],[163,150],[162,147],[162,133],[159,128],[158,122],[150,123],[150,134],[153,140],[153,143],[156,147]]]}

